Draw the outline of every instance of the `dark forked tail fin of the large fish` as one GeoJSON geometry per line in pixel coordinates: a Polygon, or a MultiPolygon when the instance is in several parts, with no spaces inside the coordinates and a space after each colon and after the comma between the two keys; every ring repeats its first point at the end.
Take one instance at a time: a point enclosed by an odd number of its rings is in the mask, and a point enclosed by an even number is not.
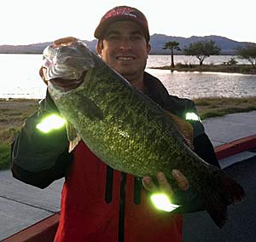
{"type": "Polygon", "coordinates": [[[246,195],[223,170],[215,170],[211,178],[213,181],[207,181],[211,188],[205,191],[202,201],[212,220],[222,228],[228,220],[227,206],[241,202],[246,195]]]}

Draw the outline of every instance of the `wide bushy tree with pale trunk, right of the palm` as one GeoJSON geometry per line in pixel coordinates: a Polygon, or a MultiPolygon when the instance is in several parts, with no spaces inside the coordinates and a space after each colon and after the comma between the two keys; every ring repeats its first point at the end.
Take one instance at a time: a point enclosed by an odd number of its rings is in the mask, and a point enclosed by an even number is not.
{"type": "Polygon", "coordinates": [[[203,61],[210,55],[219,55],[220,48],[215,45],[213,40],[198,41],[195,43],[190,43],[189,47],[185,46],[183,48],[184,55],[195,55],[200,62],[200,66],[203,61]]]}

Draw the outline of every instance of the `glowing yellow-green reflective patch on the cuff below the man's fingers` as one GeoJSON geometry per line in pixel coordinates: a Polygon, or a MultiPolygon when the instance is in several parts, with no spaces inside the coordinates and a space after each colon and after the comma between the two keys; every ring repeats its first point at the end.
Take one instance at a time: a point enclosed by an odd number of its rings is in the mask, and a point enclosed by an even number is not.
{"type": "Polygon", "coordinates": [[[173,205],[169,197],[164,193],[154,193],[150,199],[158,210],[171,212],[179,207],[179,205],[173,205]]]}

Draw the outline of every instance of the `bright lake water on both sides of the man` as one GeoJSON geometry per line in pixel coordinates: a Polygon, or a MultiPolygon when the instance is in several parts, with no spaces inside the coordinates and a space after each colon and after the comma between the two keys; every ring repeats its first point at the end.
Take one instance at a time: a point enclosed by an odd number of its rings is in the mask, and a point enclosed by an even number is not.
{"type": "MultiPolygon", "coordinates": [[[[211,56],[205,63],[220,64],[230,56],[211,56]],[[208,62],[207,62],[208,61],[208,62]]],[[[239,60],[239,59],[237,59],[239,60]]],[[[175,62],[197,63],[193,56],[176,55],[175,62]],[[195,62],[194,62],[195,61],[195,62]]],[[[243,60],[239,60],[244,63],[243,60]]],[[[46,85],[38,75],[42,55],[0,55],[0,98],[44,98],[46,85]]],[[[170,64],[168,55],[149,55],[147,72],[160,78],[169,93],[180,97],[247,97],[256,95],[256,76],[212,72],[171,72],[148,69],[170,64]]]]}

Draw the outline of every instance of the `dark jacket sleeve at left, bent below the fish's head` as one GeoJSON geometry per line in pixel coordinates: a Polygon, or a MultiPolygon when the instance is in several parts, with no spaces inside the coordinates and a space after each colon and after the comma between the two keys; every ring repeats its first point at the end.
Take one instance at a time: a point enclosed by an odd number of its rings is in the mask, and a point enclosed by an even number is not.
{"type": "Polygon", "coordinates": [[[67,175],[73,154],[67,152],[65,127],[43,133],[37,125],[52,113],[59,113],[47,93],[38,112],[27,118],[11,149],[13,176],[32,186],[44,188],[67,175]]]}

